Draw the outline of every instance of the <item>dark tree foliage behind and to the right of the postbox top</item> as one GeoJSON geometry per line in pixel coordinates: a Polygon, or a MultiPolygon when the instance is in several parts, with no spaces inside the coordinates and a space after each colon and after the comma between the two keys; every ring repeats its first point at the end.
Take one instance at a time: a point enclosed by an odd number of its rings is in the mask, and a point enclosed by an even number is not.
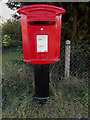
{"type": "Polygon", "coordinates": [[[77,43],[82,44],[89,40],[88,23],[89,23],[89,4],[75,2],[10,2],[7,3],[11,9],[18,9],[23,6],[33,4],[49,4],[66,9],[62,18],[62,41],[69,39],[73,43],[73,49],[77,43]]]}

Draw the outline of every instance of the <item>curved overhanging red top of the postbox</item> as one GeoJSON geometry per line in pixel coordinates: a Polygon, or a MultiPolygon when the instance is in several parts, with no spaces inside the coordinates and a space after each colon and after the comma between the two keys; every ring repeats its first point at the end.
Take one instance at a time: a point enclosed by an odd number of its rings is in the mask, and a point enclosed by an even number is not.
{"type": "Polygon", "coordinates": [[[56,15],[64,14],[66,12],[65,9],[53,5],[29,5],[29,6],[24,6],[18,9],[18,13],[20,14],[25,14],[28,15],[29,12],[31,11],[39,11],[39,10],[45,10],[45,11],[52,11],[56,15]]]}

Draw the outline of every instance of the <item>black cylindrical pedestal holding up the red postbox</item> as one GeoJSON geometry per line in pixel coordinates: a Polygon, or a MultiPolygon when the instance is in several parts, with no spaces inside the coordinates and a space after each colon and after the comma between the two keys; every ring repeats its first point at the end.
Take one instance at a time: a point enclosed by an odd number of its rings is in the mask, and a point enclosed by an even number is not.
{"type": "Polygon", "coordinates": [[[35,65],[35,99],[49,99],[49,65],[35,65]]]}

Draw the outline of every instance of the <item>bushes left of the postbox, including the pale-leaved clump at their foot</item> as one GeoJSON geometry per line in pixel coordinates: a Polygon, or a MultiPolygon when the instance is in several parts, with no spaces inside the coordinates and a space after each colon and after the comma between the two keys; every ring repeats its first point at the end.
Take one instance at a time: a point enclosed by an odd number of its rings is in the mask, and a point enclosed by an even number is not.
{"type": "Polygon", "coordinates": [[[22,45],[20,23],[18,20],[8,19],[7,22],[2,24],[2,38],[4,48],[22,45]]]}

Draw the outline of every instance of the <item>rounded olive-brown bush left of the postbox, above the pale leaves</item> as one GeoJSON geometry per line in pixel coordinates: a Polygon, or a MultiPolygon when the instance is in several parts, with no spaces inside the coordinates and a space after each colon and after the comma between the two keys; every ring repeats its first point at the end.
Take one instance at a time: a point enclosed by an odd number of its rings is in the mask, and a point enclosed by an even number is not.
{"type": "Polygon", "coordinates": [[[10,36],[11,40],[21,40],[20,23],[16,19],[8,19],[2,24],[2,34],[10,36]]]}

